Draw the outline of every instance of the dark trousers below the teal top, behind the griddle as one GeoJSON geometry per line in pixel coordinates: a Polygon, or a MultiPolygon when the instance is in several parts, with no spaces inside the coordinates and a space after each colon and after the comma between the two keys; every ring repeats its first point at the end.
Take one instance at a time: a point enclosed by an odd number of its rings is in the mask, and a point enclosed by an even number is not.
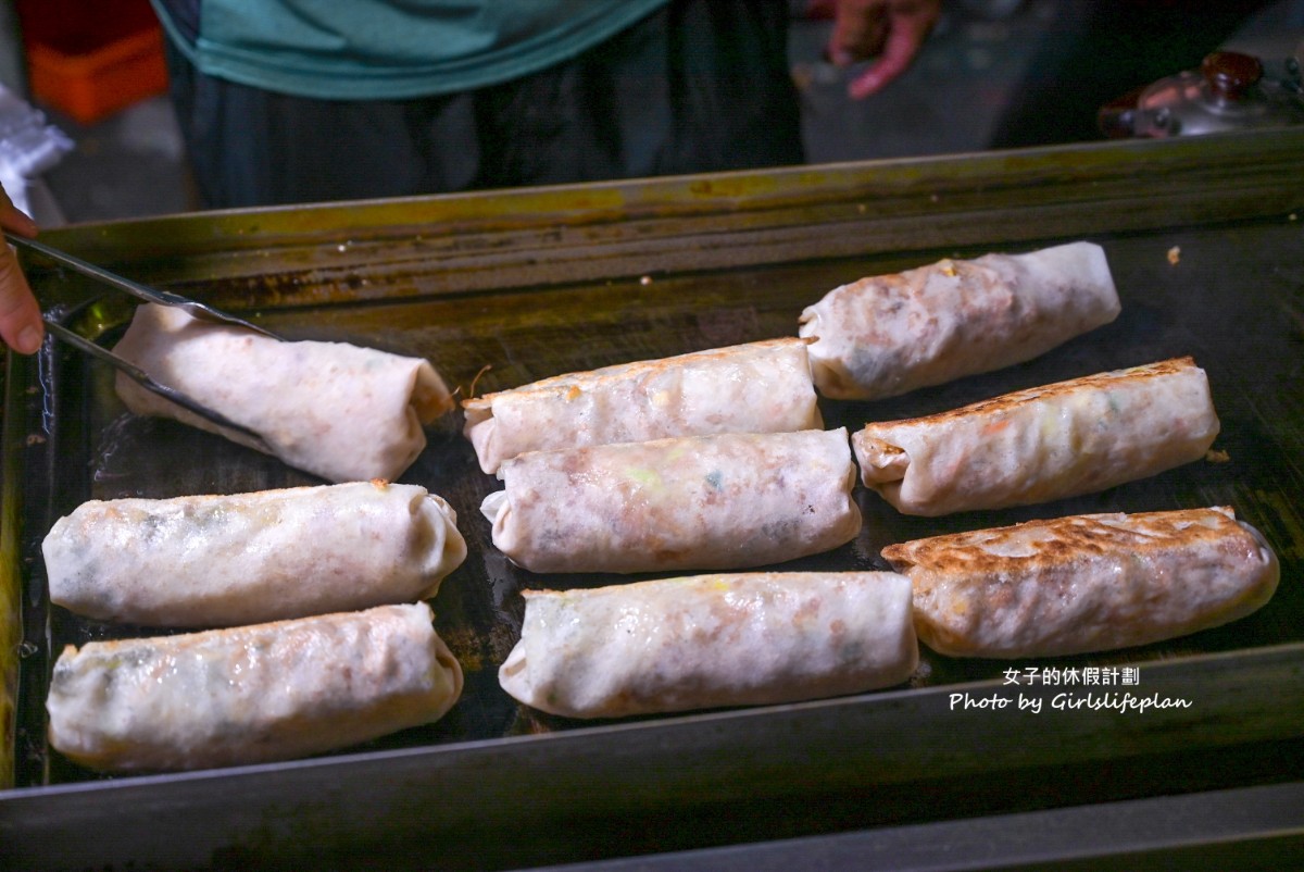
{"type": "Polygon", "coordinates": [[[786,30],[786,0],[672,0],[540,73],[402,101],[291,97],[168,60],[219,209],[801,163],[786,30]]]}

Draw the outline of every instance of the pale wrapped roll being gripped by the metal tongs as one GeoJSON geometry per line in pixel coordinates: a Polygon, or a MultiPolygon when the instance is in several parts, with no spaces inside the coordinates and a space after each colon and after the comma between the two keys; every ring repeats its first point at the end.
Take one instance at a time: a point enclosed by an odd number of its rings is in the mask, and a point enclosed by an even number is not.
{"type": "MultiPolygon", "coordinates": [[[[280,342],[153,303],[136,309],[113,351],[254,431],[287,465],[329,482],[396,479],[425,448],[422,427],[455,406],[426,360],[344,342],[280,342]]],[[[116,389],[138,415],[175,418],[265,449],[124,373],[116,389]]]]}

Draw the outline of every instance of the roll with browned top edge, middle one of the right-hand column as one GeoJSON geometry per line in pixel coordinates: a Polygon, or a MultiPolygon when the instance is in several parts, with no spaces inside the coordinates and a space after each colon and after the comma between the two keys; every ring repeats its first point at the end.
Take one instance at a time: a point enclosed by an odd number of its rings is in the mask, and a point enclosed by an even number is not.
{"type": "Polygon", "coordinates": [[[1191,358],[1030,388],[852,437],[865,486],[906,514],[1028,505],[1200,459],[1218,435],[1191,358]]]}

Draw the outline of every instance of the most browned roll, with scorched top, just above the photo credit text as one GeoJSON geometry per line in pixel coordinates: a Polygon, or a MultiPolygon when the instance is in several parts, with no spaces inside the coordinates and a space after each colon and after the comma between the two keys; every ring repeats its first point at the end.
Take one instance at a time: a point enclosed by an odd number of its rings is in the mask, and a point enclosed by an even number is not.
{"type": "Polygon", "coordinates": [[[1277,556],[1228,508],[1082,514],[889,546],[919,638],[952,657],[1146,645],[1249,615],[1277,556]]]}

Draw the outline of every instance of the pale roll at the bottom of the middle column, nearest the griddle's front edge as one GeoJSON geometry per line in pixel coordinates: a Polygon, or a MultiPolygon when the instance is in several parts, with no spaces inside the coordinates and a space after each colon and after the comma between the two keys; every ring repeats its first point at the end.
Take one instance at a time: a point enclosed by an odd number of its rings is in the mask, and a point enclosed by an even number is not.
{"type": "Polygon", "coordinates": [[[527,590],[498,671],[516,700],[615,718],[861,693],[918,663],[910,582],[889,572],[746,573],[527,590]]]}

